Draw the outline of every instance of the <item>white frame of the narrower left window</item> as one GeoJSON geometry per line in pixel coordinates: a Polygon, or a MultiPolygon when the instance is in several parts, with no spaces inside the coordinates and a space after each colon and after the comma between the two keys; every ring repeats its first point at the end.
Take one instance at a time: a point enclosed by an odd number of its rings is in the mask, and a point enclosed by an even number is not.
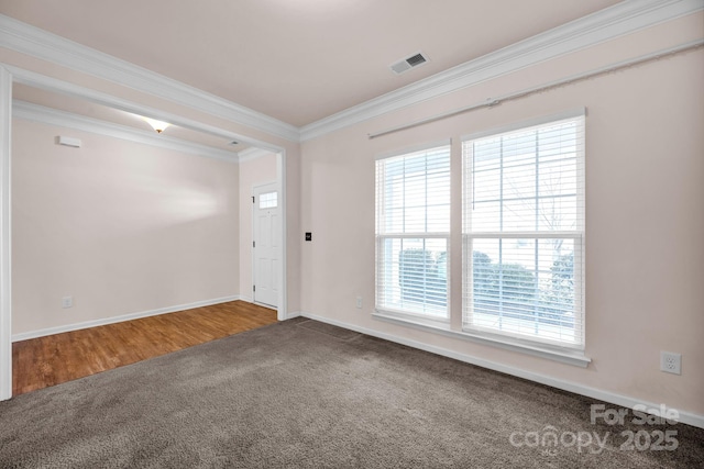
{"type": "MultiPolygon", "coordinates": [[[[384,175],[380,175],[380,171],[382,171],[383,169],[380,169],[380,163],[387,160],[387,159],[392,159],[392,158],[403,158],[403,157],[414,157],[414,156],[418,156],[421,153],[425,152],[430,152],[430,150],[435,150],[435,149],[441,149],[447,147],[447,152],[448,152],[448,165],[450,166],[451,163],[451,141],[442,141],[442,142],[435,142],[435,143],[430,143],[430,144],[426,144],[426,145],[421,145],[421,146],[416,146],[416,147],[411,147],[411,148],[407,148],[405,150],[402,152],[395,152],[392,154],[385,154],[385,155],[380,155],[376,158],[376,188],[375,188],[375,206],[376,206],[376,228],[375,228],[375,248],[376,248],[376,255],[375,255],[375,264],[376,264],[376,278],[375,278],[375,313],[377,314],[383,314],[383,315],[387,315],[391,317],[399,317],[399,319],[407,319],[414,322],[418,322],[418,323],[427,323],[427,324],[437,324],[437,323],[444,323],[444,324],[449,324],[450,323],[450,299],[451,299],[451,291],[450,291],[450,259],[451,259],[451,252],[450,252],[450,235],[451,235],[451,227],[448,224],[448,230],[447,232],[428,232],[428,231],[414,231],[414,232],[406,232],[400,231],[400,232],[391,232],[391,231],[386,231],[384,227],[382,227],[382,220],[386,220],[385,219],[385,208],[384,208],[384,201],[385,201],[385,197],[384,197],[384,185],[380,183],[380,178],[382,180],[385,180],[385,176],[384,175]],[[431,239],[444,239],[446,242],[446,263],[447,263],[447,268],[446,268],[446,288],[447,288],[447,295],[446,295],[446,314],[444,316],[440,316],[437,314],[424,314],[421,312],[418,311],[411,311],[411,310],[407,310],[407,309],[403,309],[403,308],[393,308],[389,306],[388,303],[386,303],[384,301],[385,298],[385,290],[386,290],[386,286],[385,286],[385,270],[386,270],[386,263],[382,259],[382,253],[384,252],[384,244],[386,243],[386,241],[388,239],[424,239],[424,241],[431,241],[431,239]]],[[[451,175],[451,171],[449,170],[448,175],[451,175]]],[[[451,215],[451,206],[452,206],[452,199],[451,196],[448,197],[448,204],[450,205],[450,215],[451,215]]],[[[449,222],[449,221],[448,221],[449,222]]]]}

